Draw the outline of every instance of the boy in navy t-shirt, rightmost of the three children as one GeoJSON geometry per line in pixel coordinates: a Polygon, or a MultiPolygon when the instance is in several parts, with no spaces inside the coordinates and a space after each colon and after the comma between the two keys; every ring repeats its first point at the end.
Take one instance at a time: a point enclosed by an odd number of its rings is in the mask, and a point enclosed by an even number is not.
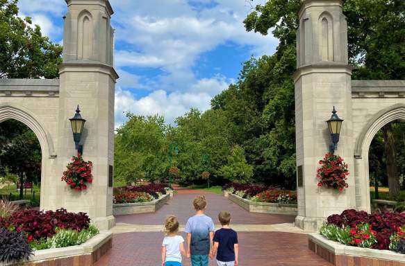
{"type": "Polygon", "coordinates": [[[227,211],[221,211],[218,220],[220,220],[222,228],[215,232],[214,247],[210,253],[210,258],[213,258],[215,252],[218,251],[218,266],[238,265],[238,234],[229,227],[231,214],[227,211]]]}

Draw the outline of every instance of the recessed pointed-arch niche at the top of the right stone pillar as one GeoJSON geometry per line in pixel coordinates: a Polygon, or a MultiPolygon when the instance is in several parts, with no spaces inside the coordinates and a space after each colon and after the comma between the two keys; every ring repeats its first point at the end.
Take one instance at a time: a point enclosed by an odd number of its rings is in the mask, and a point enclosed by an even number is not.
{"type": "Polygon", "coordinates": [[[319,54],[322,61],[333,61],[333,17],[323,12],[318,19],[319,54]]]}

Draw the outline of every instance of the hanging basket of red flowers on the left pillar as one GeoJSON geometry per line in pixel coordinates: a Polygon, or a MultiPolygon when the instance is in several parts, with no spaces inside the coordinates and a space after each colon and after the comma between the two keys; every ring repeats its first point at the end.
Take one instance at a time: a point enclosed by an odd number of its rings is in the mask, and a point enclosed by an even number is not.
{"type": "Polygon", "coordinates": [[[81,154],[72,157],[72,161],[67,165],[63,172],[62,181],[65,181],[70,188],[81,191],[88,188],[86,183],[92,183],[92,162],[84,161],[81,154]]]}

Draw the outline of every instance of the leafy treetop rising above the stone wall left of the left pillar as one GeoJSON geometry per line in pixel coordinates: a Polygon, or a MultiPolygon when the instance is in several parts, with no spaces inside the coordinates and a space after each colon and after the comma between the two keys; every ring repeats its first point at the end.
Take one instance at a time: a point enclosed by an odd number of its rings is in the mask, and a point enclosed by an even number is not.
{"type": "Polygon", "coordinates": [[[0,1],[0,78],[57,78],[61,54],[30,17],[19,17],[17,0],[0,1]]]}

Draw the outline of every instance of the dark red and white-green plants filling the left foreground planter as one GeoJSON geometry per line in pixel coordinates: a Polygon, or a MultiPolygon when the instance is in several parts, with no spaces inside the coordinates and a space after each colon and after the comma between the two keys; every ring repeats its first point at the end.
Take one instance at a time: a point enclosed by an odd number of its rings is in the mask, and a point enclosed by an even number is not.
{"type": "Polygon", "coordinates": [[[98,233],[85,213],[15,211],[0,218],[0,263],[26,260],[41,249],[81,245],[98,233]]]}

